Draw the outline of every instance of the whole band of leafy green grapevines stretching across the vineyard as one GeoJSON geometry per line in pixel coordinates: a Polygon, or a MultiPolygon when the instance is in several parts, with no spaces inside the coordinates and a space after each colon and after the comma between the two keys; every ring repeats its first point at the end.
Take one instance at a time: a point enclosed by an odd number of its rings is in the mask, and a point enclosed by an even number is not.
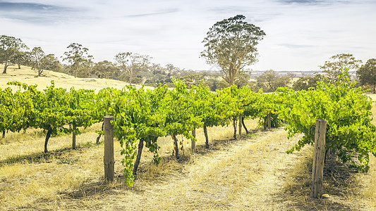
{"type": "MultiPolygon", "coordinates": [[[[372,101],[360,88],[341,75],[339,82],[330,84],[325,79],[316,89],[293,91],[281,88],[272,94],[255,93],[249,87],[231,86],[212,92],[204,86],[187,89],[186,84],[174,80],[174,89],[160,86],[156,89],[105,88],[94,90],[56,88],[54,82],[38,91],[36,86],[9,82],[18,87],[0,89],[0,131],[19,132],[29,127],[46,132],[44,152],[50,136],[58,132],[80,134],[78,127],[88,127],[101,122],[104,115],[114,117],[114,136],[121,143],[124,176],[128,186],[133,185],[142,149],[154,153],[154,163],[159,163],[157,139],[171,136],[174,153],[178,158],[176,136],[183,135],[195,141],[194,129],[203,128],[206,146],[209,146],[207,127],[243,123],[243,118],[258,118],[264,123],[268,114],[272,124],[288,125],[289,137],[303,133],[303,138],[288,153],[312,145],[315,137],[315,120],[327,120],[327,150],[338,152],[344,162],[356,153],[359,170],[368,170],[369,153],[376,155],[375,131],[372,120],[372,101]],[[239,118],[240,117],[240,118],[239,118]],[[67,124],[73,127],[67,127],[67,124]]],[[[247,131],[246,127],[245,130],[247,131]]],[[[74,137],[74,136],[73,136],[74,137]]],[[[75,147],[73,139],[73,148],[75,147]]]]}

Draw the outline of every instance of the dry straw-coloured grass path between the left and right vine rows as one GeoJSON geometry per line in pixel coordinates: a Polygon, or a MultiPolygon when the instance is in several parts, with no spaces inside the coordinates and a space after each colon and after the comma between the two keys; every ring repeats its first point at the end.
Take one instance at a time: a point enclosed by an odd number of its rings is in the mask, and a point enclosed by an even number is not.
{"type": "MultiPolygon", "coordinates": [[[[65,210],[288,210],[280,193],[287,170],[301,153],[285,151],[298,138],[283,129],[232,141],[219,151],[192,155],[189,162],[159,179],[142,179],[134,188],[115,187],[56,201],[65,210]]],[[[176,166],[175,166],[176,167],[176,166]]],[[[98,185],[98,184],[97,184],[98,185]]],[[[91,184],[90,186],[95,186],[91,184]]]]}

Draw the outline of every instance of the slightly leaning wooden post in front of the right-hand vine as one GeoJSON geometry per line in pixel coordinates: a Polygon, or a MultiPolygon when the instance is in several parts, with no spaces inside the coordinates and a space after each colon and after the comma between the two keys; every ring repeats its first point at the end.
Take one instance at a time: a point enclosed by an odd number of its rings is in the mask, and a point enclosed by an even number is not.
{"type": "Polygon", "coordinates": [[[326,129],[326,120],[316,120],[315,151],[313,152],[312,185],[310,193],[310,196],[313,198],[319,198],[322,194],[326,129]]]}

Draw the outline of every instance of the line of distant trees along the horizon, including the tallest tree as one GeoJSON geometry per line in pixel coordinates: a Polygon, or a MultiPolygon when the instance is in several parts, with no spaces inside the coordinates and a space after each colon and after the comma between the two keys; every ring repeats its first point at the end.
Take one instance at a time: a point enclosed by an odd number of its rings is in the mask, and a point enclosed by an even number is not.
{"type": "MultiPolygon", "coordinates": [[[[65,62],[62,64],[59,58],[54,54],[45,53],[40,46],[30,50],[21,39],[6,35],[0,36],[0,63],[4,64],[4,74],[6,74],[9,65],[16,65],[18,69],[20,69],[21,65],[27,65],[32,70],[35,70],[36,76],[44,75],[44,70],[51,70],[73,75],[74,77],[118,79],[129,84],[144,84],[151,87],[157,87],[159,84],[166,84],[172,87],[171,79],[176,78],[184,81],[188,88],[203,84],[209,87],[211,91],[229,87],[231,84],[236,84],[238,88],[249,85],[253,91],[262,89],[265,92],[276,91],[278,87],[292,87],[295,90],[315,89],[317,82],[322,78],[318,73],[313,76],[293,79],[293,75],[279,75],[274,70],[266,70],[255,79],[250,79],[251,72],[243,70],[244,66],[238,65],[238,69],[234,69],[233,66],[238,64],[239,60],[232,60],[232,63],[221,61],[240,57],[219,52],[221,48],[217,48],[215,45],[222,45],[222,42],[215,44],[211,39],[240,36],[238,33],[234,35],[234,30],[225,32],[231,24],[236,24],[243,25],[237,30],[248,32],[248,38],[236,37],[236,41],[239,42],[241,40],[245,46],[248,46],[248,50],[247,47],[241,48],[244,50],[242,61],[244,63],[248,59],[248,64],[255,62],[257,53],[250,46],[255,46],[265,33],[258,27],[243,22],[243,19],[243,16],[236,16],[229,18],[229,20],[222,20],[222,22],[217,23],[214,25],[215,27],[213,26],[210,29],[208,36],[203,41],[207,49],[202,51],[201,56],[207,58],[207,63],[219,65],[219,68],[221,68],[219,72],[185,70],[177,68],[173,64],[162,66],[151,63],[152,57],[150,56],[131,52],[116,54],[114,63],[109,60],[95,63],[93,56],[89,54],[89,49],[78,43],[72,43],[67,46],[66,52],[61,56],[61,60],[65,62]],[[245,40],[252,36],[255,41],[247,43],[245,40]],[[216,50],[214,51],[214,49],[216,50]],[[247,53],[250,53],[251,56],[247,53]],[[222,57],[219,55],[222,55],[222,57]],[[224,58],[224,55],[226,58],[224,58]],[[233,67],[232,69],[230,68],[231,70],[228,68],[230,66],[233,67]]],[[[242,36],[245,36],[245,32],[241,33],[242,36]]],[[[229,49],[226,48],[231,46],[231,41],[227,41],[226,47],[222,46],[224,52],[229,53],[229,49]]],[[[239,46],[238,42],[236,43],[237,46],[239,46]]],[[[236,51],[238,52],[238,50],[236,51]]],[[[332,83],[335,83],[342,73],[356,72],[358,85],[363,86],[363,89],[371,89],[373,93],[376,93],[376,58],[371,58],[362,65],[362,61],[354,58],[352,54],[341,53],[332,56],[325,61],[324,65],[319,67],[332,83]]]]}

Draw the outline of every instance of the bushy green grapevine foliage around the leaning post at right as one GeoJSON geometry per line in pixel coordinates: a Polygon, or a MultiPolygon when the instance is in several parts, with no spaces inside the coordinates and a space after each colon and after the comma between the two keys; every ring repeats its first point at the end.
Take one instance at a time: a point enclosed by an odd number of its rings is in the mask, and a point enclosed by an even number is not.
{"type": "MultiPolygon", "coordinates": [[[[327,120],[326,148],[337,151],[343,162],[358,153],[360,168],[368,170],[368,153],[376,155],[375,131],[371,124],[372,101],[347,75],[339,75],[335,84],[318,82],[316,89],[293,91],[279,89],[284,105],[280,115],[289,123],[289,137],[303,133],[303,138],[288,153],[315,141],[315,121],[327,120]]],[[[355,165],[355,163],[354,163],[355,165]]]]}

